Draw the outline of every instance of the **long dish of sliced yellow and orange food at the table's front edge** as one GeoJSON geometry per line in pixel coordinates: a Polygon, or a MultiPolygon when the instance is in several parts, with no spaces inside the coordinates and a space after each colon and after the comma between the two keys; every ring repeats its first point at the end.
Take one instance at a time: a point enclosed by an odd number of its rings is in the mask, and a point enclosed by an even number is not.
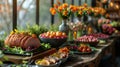
{"type": "Polygon", "coordinates": [[[69,50],[67,48],[61,48],[58,50],[58,52],[53,53],[48,57],[36,60],[35,64],[41,66],[56,66],[62,62],[63,58],[68,57],[68,52],[69,50]]]}

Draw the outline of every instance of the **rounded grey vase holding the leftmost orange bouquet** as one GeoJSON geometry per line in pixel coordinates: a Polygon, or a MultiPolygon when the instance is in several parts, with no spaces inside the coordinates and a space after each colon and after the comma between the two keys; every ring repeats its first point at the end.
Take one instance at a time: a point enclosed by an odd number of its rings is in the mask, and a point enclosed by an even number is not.
{"type": "Polygon", "coordinates": [[[62,20],[62,24],[59,26],[59,31],[69,33],[69,26],[67,25],[67,19],[62,20]]]}

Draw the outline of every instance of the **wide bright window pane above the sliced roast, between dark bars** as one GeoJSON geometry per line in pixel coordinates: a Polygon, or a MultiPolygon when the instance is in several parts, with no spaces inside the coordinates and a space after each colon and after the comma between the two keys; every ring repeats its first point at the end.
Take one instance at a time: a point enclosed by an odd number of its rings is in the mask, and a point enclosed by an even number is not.
{"type": "Polygon", "coordinates": [[[25,28],[27,24],[35,24],[35,0],[17,0],[17,27],[25,28]]]}

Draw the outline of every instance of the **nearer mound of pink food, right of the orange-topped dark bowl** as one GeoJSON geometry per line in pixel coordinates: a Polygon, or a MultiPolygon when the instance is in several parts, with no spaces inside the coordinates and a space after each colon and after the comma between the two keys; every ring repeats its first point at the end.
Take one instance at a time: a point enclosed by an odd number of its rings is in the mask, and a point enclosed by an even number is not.
{"type": "Polygon", "coordinates": [[[98,39],[94,36],[84,35],[78,37],[75,41],[90,43],[90,42],[98,42],[98,39]]]}

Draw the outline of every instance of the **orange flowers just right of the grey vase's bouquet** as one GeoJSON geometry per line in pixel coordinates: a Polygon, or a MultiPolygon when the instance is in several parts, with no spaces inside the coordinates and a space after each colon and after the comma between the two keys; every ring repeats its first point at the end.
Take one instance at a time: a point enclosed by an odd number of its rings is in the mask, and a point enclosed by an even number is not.
{"type": "Polygon", "coordinates": [[[90,15],[95,17],[100,17],[101,15],[105,15],[105,9],[101,7],[88,7],[87,4],[83,4],[81,6],[76,6],[76,16],[81,17],[83,15],[90,15]]]}

